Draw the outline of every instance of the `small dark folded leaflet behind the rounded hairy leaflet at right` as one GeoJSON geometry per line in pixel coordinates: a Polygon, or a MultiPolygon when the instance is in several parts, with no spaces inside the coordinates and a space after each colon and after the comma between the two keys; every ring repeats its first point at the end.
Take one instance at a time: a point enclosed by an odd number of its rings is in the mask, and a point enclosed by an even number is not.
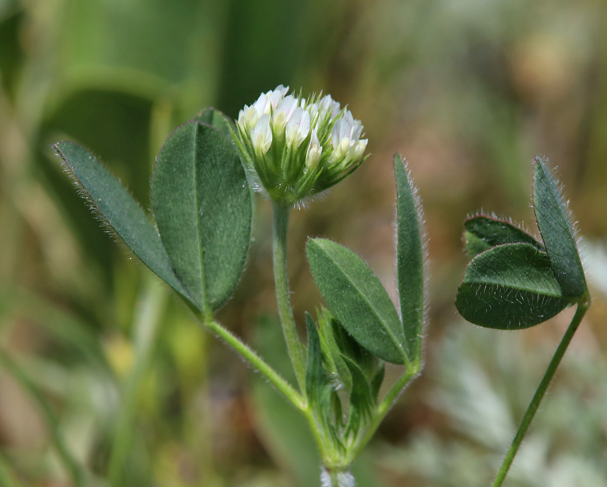
{"type": "Polygon", "coordinates": [[[498,218],[477,215],[464,223],[464,245],[466,254],[473,258],[485,250],[505,243],[528,243],[538,250],[544,247],[529,233],[498,218]]]}

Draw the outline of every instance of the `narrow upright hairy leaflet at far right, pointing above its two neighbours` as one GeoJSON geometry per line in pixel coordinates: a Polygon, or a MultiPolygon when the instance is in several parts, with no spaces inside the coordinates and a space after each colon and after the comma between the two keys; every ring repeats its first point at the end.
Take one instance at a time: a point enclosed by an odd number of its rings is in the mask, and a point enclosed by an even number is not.
{"type": "Polygon", "coordinates": [[[537,226],[563,294],[573,297],[587,295],[584,269],[566,203],[540,157],[534,159],[533,203],[537,226]]]}

